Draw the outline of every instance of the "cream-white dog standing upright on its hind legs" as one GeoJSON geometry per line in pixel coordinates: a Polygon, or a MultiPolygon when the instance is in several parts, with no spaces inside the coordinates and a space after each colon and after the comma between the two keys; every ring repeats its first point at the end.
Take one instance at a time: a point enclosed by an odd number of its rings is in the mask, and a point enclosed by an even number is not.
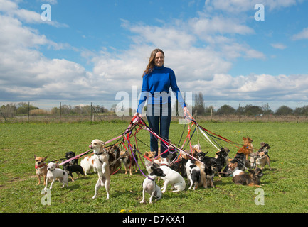
{"type": "Polygon", "coordinates": [[[95,185],[95,194],[92,199],[95,199],[100,187],[104,187],[107,192],[107,198],[109,199],[109,188],[110,188],[110,169],[109,169],[109,154],[104,149],[105,143],[101,140],[92,140],[89,148],[93,149],[95,154],[94,166],[98,172],[98,179],[95,185]]]}

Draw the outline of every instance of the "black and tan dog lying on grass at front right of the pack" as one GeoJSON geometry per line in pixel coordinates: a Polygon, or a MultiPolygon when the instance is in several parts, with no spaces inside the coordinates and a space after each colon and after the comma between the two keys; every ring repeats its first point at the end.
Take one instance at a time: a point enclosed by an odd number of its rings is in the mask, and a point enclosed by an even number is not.
{"type": "Polygon", "coordinates": [[[260,178],[263,176],[263,172],[260,168],[256,168],[255,170],[248,170],[249,173],[245,173],[243,175],[236,175],[233,177],[232,181],[235,184],[242,184],[248,186],[260,186],[260,178]]]}

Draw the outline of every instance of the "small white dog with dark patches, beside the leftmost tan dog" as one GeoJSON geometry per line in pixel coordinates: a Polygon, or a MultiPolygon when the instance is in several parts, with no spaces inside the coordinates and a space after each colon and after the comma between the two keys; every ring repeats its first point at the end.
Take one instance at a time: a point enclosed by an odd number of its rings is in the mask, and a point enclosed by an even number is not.
{"type": "Polygon", "coordinates": [[[66,187],[68,187],[68,173],[65,170],[61,170],[58,167],[58,163],[49,162],[47,165],[47,176],[46,176],[46,184],[45,184],[45,192],[47,192],[47,185],[48,180],[51,182],[51,187],[49,189],[53,188],[53,183],[55,182],[55,179],[59,179],[59,181],[63,184],[63,187],[66,184],[66,187]]]}

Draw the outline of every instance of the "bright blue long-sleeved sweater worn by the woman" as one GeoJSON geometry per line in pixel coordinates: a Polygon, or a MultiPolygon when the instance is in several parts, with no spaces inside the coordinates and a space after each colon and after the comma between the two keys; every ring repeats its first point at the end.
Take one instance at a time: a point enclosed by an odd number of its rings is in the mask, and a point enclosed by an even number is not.
{"type": "Polygon", "coordinates": [[[142,79],[142,89],[137,112],[142,112],[147,99],[149,104],[171,103],[170,87],[176,94],[176,99],[178,99],[181,107],[186,107],[179,87],[176,84],[176,75],[174,71],[164,66],[154,66],[154,70],[149,74],[145,74],[142,79]]]}

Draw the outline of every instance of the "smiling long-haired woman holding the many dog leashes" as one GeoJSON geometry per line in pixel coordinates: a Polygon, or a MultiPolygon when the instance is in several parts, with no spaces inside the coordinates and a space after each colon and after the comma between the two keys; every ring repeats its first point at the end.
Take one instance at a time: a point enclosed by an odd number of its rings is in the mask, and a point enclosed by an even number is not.
{"type": "MultiPolygon", "coordinates": [[[[164,67],[164,52],[160,49],[152,51],[149,64],[142,77],[142,93],[139,100],[137,113],[134,116],[141,116],[145,101],[147,101],[147,120],[149,127],[166,140],[169,139],[169,128],[171,122],[171,94],[169,89],[176,94],[184,114],[188,111],[181,96],[179,87],[176,84],[176,76],[170,68],[164,67]],[[160,123],[160,128],[159,128],[160,123]]],[[[158,155],[158,141],[154,135],[150,135],[150,148],[158,155]]],[[[164,153],[166,146],[161,143],[161,153],[164,153]]],[[[161,155],[166,157],[168,152],[161,155]]]]}

